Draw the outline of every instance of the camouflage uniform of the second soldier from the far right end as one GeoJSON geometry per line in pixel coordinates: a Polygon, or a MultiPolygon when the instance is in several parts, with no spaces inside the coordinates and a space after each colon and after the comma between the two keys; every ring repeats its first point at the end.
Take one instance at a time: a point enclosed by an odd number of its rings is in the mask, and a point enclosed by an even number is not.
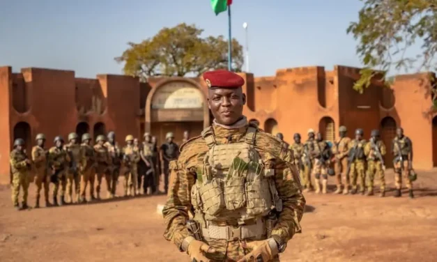
{"type": "Polygon", "coordinates": [[[381,196],[383,196],[385,194],[384,169],[383,163],[376,156],[375,146],[381,153],[381,157],[384,157],[386,153],[385,145],[381,140],[376,141],[374,144],[369,141],[365,146],[365,155],[367,157],[367,194],[374,194],[374,179],[375,175],[377,175],[380,181],[381,196]]]}

